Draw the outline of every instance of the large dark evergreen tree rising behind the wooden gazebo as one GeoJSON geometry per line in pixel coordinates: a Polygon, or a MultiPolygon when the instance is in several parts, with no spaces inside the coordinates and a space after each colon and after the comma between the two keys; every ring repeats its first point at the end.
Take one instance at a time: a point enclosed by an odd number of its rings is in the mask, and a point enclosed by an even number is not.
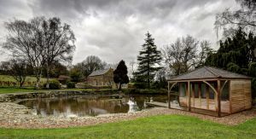
{"type": "Polygon", "coordinates": [[[207,57],[206,65],[247,74],[249,64],[256,61],[253,54],[255,43],[256,37],[252,32],[247,35],[239,28],[232,38],[220,41],[217,53],[207,57]]]}

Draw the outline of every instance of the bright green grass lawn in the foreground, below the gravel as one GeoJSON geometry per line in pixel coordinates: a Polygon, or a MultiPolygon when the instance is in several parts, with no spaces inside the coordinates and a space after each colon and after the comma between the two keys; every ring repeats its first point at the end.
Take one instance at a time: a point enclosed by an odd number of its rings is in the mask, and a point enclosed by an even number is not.
{"type": "Polygon", "coordinates": [[[0,129],[0,138],[256,138],[256,119],[227,126],[166,115],[66,129],[0,129]]]}

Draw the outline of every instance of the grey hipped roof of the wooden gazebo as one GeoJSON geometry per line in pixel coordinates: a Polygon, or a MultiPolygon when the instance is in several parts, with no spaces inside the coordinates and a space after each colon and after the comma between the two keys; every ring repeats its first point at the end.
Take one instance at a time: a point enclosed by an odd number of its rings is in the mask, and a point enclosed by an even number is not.
{"type": "Polygon", "coordinates": [[[181,75],[178,75],[174,78],[170,78],[170,81],[173,80],[188,80],[188,79],[203,79],[203,78],[250,78],[245,75],[241,75],[235,72],[225,71],[216,67],[201,67],[195,69],[191,72],[186,72],[181,75]]]}

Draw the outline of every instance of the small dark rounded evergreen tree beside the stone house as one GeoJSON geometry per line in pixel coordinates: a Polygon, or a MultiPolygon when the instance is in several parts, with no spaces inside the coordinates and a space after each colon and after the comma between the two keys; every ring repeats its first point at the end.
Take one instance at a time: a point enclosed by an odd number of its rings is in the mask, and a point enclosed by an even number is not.
{"type": "Polygon", "coordinates": [[[125,61],[120,61],[118,67],[113,71],[113,82],[119,84],[119,90],[121,90],[121,84],[128,84],[129,78],[127,76],[127,67],[125,61]]]}

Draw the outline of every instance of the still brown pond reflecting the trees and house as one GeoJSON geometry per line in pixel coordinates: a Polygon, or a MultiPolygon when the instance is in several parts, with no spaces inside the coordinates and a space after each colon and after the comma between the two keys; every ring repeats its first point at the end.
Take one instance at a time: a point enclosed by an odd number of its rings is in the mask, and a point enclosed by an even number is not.
{"type": "Polygon", "coordinates": [[[166,102],[166,96],[60,96],[54,98],[37,98],[18,102],[32,108],[42,116],[80,117],[96,116],[108,113],[131,113],[147,108],[146,102],[166,102]]]}

